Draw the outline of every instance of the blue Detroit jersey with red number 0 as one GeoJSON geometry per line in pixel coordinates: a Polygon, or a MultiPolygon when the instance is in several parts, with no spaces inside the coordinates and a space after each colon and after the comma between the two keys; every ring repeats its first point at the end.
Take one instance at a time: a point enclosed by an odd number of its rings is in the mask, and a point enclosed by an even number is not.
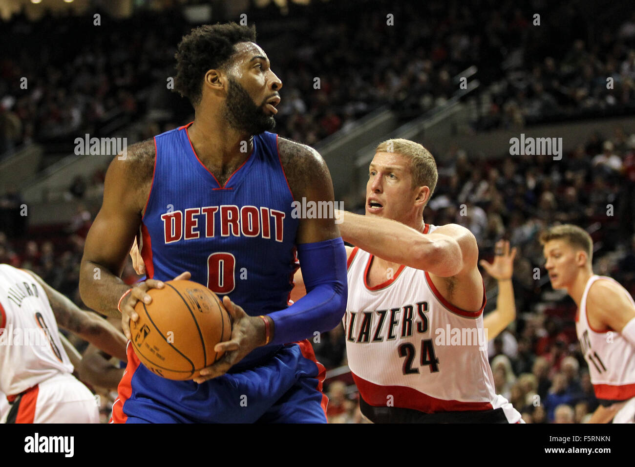
{"type": "MultiPolygon", "coordinates": [[[[221,299],[228,295],[248,315],[286,308],[298,266],[298,219],[291,217],[293,196],[277,135],[255,135],[250,156],[220,186],[194,152],[189,125],[155,137],[154,178],[141,226],[149,278],[166,281],[190,271],[192,281],[221,299]]],[[[257,348],[231,371],[279,348],[257,348]]]]}

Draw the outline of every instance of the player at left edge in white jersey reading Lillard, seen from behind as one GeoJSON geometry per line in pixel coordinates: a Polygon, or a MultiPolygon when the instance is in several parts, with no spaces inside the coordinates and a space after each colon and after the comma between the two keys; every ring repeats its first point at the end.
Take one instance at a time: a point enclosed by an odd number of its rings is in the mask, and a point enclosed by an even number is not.
{"type": "Polygon", "coordinates": [[[118,358],[126,338],[34,273],[0,264],[0,391],[6,423],[98,423],[93,394],[72,376],[58,325],[118,358]]]}

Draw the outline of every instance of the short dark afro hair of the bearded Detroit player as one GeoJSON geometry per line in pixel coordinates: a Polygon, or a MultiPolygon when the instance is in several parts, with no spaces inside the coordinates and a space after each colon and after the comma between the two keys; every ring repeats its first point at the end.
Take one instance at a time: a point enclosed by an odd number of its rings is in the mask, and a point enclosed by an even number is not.
{"type": "Polygon", "coordinates": [[[225,67],[234,54],[234,44],[255,41],[254,25],[218,23],[192,29],[187,36],[183,36],[174,56],[177,59],[175,91],[189,98],[192,105],[197,105],[201,102],[205,73],[225,67]]]}

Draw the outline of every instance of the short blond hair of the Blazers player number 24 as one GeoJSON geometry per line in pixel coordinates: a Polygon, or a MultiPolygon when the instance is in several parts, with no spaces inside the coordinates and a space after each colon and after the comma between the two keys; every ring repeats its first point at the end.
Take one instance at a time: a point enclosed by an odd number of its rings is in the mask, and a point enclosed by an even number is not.
{"type": "Polygon", "coordinates": [[[395,138],[380,143],[375,152],[394,152],[410,159],[412,187],[427,186],[430,189],[430,196],[428,196],[430,200],[439,179],[436,162],[430,151],[414,141],[395,138]]]}

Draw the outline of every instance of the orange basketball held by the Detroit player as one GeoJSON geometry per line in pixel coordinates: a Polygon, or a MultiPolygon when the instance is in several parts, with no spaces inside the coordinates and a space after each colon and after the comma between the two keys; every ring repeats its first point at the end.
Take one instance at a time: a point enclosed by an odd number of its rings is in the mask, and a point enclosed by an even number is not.
{"type": "Polygon", "coordinates": [[[214,292],[196,282],[171,280],[147,294],[152,302],[137,303],[139,319],[130,321],[130,332],[135,353],[148,369],[167,379],[194,379],[223,356],[214,346],[229,340],[232,323],[214,292]]]}

